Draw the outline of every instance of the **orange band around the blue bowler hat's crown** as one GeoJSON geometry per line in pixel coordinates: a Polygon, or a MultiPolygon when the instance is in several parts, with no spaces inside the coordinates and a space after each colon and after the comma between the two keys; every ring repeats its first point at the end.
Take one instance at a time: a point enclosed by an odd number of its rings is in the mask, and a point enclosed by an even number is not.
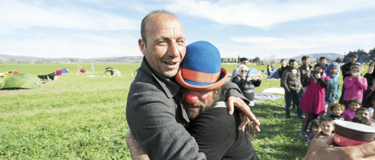
{"type": "Polygon", "coordinates": [[[205,83],[214,83],[219,79],[220,72],[218,73],[204,73],[199,71],[193,71],[186,68],[181,68],[181,76],[183,79],[205,82],[205,83]]]}

